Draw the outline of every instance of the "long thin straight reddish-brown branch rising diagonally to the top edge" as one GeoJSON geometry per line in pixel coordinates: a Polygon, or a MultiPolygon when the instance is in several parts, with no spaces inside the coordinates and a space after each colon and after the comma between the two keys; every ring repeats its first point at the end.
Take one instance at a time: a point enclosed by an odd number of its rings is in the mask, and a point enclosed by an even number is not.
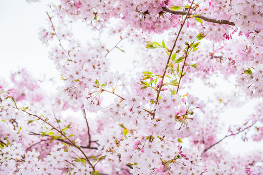
{"type": "MultiPolygon", "coordinates": [[[[171,51],[170,51],[170,54],[169,54],[169,57],[168,57],[168,60],[167,60],[167,64],[166,64],[166,66],[165,66],[165,70],[164,70],[164,73],[163,73],[163,76],[162,76],[160,88],[159,88],[158,91],[157,91],[157,96],[156,96],[155,105],[157,105],[158,100],[159,100],[159,95],[160,95],[161,89],[162,89],[162,87],[163,87],[163,82],[164,82],[166,70],[167,70],[167,68],[168,68],[168,64],[169,64],[169,61],[170,61],[172,52],[173,52],[173,50],[174,50],[174,48],[175,48],[175,45],[176,45],[177,39],[178,39],[178,37],[179,37],[179,35],[180,35],[180,33],[181,33],[181,30],[182,30],[182,28],[183,28],[183,26],[184,26],[184,24],[185,24],[185,22],[186,22],[186,20],[187,20],[187,18],[188,18],[188,14],[189,14],[189,12],[190,12],[190,9],[191,9],[191,6],[192,6],[192,4],[193,4],[193,1],[194,1],[194,0],[192,0],[192,3],[191,3],[191,5],[190,5],[190,8],[188,9],[188,11],[187,11],[187,13],[186,13],[186,18],[184,19],[183,23],[181,24],[181,27],[180,27],[179,32],[178,32],[178,35],[176,36],[175,41],[174,41],[173,46],[172,46],[172,49],[171,49],[171,51]]],[[[155,114],[155,110],[154,110],[153,114],[155,114]]],[[[154,116],[155,116],[155,115],[152,116],[152,119],[154,119],[154,116]]]]}

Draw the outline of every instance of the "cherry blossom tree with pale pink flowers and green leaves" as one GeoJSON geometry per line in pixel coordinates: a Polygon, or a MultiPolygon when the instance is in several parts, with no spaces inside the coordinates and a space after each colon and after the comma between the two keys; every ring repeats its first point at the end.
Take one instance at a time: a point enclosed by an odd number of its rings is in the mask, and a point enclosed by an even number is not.
{"type": "Polygon", "coordinates": [[[263,139],[262,0],[59,0],[49,7],[39,39],[63,85],[47,93],[26,69],[12,83],[0,80],[0,175],[262,174],[262,149],[232,155],[222,145],[236,136],[263,139]],[[79,21],[119,40],[109,49],[100,37],[83,44],[71,28],[79,21]],[[138,48],[142,72],[111,68],[113,50],[125,55],[123,40],[138,48]],[[234,77],[235,91],[205,102],[187,93],[195,79],[216,86],[217,75],[234,77]],[[244,96],[257,100],[255,108],[225,131],[220,112],[244,96]]]}

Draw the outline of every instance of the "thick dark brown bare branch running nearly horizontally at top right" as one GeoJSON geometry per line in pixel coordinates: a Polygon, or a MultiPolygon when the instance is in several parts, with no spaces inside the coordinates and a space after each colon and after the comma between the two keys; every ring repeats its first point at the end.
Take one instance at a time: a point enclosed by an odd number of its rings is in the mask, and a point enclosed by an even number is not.
{"type": "MultiPolygon", "coordinates": [[[[166,8],[166,7],[163,7],[163,10],[168,12],[168,13],[175,14],[175,15],[186,15],[187,14],[187,12],[185,12],[185,11],[170,10],[169,8],[166,8]]],[[[196,14],[193,14],[193,13],[188,13],[188,14],[192,15],[192,16],[196,15],[196,14]]],[[[216,20],[216,19],[204,17],[202,15],[195,16],[194,18],[200,18],[200,19],[203,19],[204,21],[217,23],[217,24],[227,24],[227,25],[235,26],[234,22],[230,22],[230,21],[225,20],[225,19],[216,20]]]]}

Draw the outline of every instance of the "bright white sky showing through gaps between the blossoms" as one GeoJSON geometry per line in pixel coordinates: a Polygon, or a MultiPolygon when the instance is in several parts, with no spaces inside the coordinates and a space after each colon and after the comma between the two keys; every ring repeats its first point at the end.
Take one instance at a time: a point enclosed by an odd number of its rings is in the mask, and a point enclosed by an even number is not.
{"type": "MultiPolygon", "coordinates": [[[[44,0],[42,0],[44,1],[44,0]]],[[[55,66],[51,60],[48,59],[48,48],[38,40],[38,31],[41,26],[46,26],[46,11],[48,7],[46,2],[28,4],[25,0],[2,0],[0,6],[0,79],[8,80],[10,72],[17,71],[21,68],[26,68],[35,77],[46,79],[53,78],[59,82],[60,75],[56,71],[55,66]]],[[[77,28],[77,37],[91,38],[90,31],[81,26],[77,28]]],[[[105,42],[109,48],[115,45],[112,37],[106,34],[105,42]]],[[[136,57],[134,47],[128,42],[123,41],[121,44],[126,51],[126,54],[118,50],[113,50],[111,55],[113,59],[113,69],[123,72],[131,69],[132,59],[136,57]],[[129,48],[129,49],[128,49],[129,48]],[[128,55],[128,56],[127,56],[128,55]],[[123,65],[126,65],[123,66],[123,65]]],[[[219,80],[220,81],[220,80],[219,80]]],[[[55,89],[56,85],[45,84],[46,88],[55,89]],[[52,86],[50,86],[52,85],[52,86]]],[[[197,83],[190,91],[195,96],[210,96],[215,92],[228,91],[229,84],[222,83],[216,89],[206,88],[203,84],[197,83]]],[[[247,104],[239,108],[231,108],[226,110],[221,116],[225,120],[225,125],[230,123],[241,123],[245,117],[251,114],[253,103],[248,101],[247,104]]],[[[225,131],[226,133],[226,131],[225,131]]],[[[225,133],[222,134],[224,137],[225,133]]],[[[251,142],[243,142],[240,139],[229,138],[224,141],[232,153],[241,153],[246,150],[260,148],[260,144],[253,144],[251,142]],[[237,149],[238,148],[238,149],[237,149]]],[[[221,144],[224,144],[221,143],[221,144]]]]}

